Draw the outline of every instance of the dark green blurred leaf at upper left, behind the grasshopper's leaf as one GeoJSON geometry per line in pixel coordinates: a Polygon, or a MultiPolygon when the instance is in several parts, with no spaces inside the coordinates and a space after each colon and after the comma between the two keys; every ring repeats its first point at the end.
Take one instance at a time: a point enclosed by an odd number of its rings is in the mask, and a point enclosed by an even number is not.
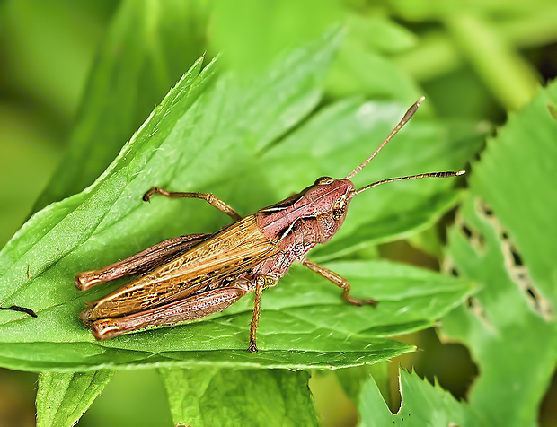
{"type": "Polygon", "coordinates": [[[93,66],[65,158],[33,211],[79,192],[203,54],[208,6],[202,1],[120,4],[93,66]]]}

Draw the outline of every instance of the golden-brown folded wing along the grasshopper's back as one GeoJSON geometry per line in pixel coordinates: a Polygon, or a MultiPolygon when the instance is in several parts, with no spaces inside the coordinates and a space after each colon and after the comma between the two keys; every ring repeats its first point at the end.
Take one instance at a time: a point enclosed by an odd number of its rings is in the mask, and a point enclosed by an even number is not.
{"type": "Polygon", "coordinates": [[[228,286],[234,283],[234,278],[278,252],[261,233],[255,216],[247,216],[199,242],[180,257],[93,301],[81,318],[90,326],[98,319],[128,316],[228,286]]]}

